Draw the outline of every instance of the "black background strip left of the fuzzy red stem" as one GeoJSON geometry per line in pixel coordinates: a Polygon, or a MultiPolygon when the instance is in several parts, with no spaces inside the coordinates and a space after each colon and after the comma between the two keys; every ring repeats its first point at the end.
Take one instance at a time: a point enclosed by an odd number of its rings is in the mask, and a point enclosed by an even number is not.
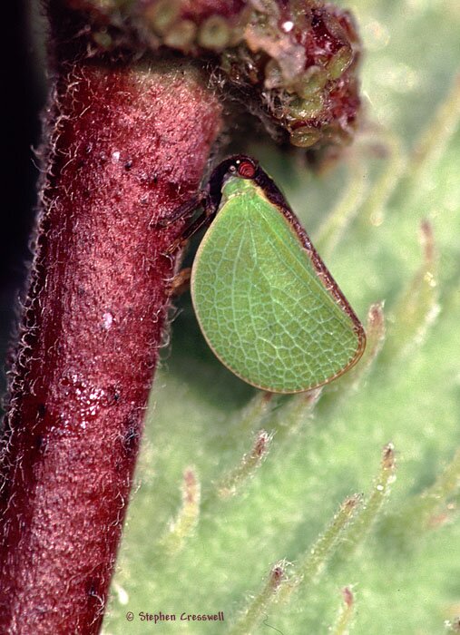
{"type": "Polygon", "coordinates": [[[0,390],[5,390],[4,359],[24,289],[30,232],[34,225],[37,159],[44,108],[43,20],[28,0],[7,3],[2,47],[3,190],[0,232],[0,390]]]}

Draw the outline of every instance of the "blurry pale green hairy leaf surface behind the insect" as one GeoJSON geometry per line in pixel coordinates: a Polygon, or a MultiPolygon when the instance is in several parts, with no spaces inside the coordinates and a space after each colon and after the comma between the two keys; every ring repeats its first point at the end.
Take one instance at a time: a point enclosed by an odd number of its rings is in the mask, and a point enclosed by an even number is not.
{"type": "Polygon", "coordinates": [[[313,242],[320,237],[357,314],[373,306],[372,346],[361,371],[320,393],[269,399],[220,365],[190,297],[181,298],[152,392],[106,635],[226,635],[244,615],[250,630],[241,632],[257,634],[455,631],[460,5],[340,4],[354,11],[367,47],[367,122],[356,142],[320,175],[268,143],[244,151],[285,190],[313,242]],[[359,195],[350,185],[357,178],[366,181],[359,195]],[[388,443],[394,453],[382,459],[388,443]],[[340,505],[356,494],[356,513],[324,547],[340,505]],[[318,544],[320,562],[306,576],[318,544]],[[344,588],[352,604],[338,612],[344,588]],[[140,611],[176,620],[154,624],[140,611]],[[218,611],[223,621],[181,620],[218,611]]]}

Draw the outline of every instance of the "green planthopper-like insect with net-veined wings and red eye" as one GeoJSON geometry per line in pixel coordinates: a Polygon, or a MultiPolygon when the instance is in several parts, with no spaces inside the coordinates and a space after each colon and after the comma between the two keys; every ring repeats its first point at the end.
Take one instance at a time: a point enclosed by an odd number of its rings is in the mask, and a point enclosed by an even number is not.
{"type": "Polygon", "coordinates": [[[244,155],[222,161],[167,224],[199,208],[168,252],[208,227],[191,269],[191,298],[222,364],[272,393],[307,391],[354,366],[364,328],[259,163],[244,155]]]}

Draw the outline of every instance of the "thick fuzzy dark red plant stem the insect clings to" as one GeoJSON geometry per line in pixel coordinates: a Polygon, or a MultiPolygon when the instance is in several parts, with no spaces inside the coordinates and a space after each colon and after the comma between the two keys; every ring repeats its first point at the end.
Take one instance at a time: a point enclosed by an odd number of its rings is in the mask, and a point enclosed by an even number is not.
{"type": "Polygon", "coordinates": [[[158,357],[178,227],[220,129],[185,62],[61,64],[5,419],[0,632],[95,633],[158,357]],[[66,70],[64,70],[66,69],[66,70]]]}

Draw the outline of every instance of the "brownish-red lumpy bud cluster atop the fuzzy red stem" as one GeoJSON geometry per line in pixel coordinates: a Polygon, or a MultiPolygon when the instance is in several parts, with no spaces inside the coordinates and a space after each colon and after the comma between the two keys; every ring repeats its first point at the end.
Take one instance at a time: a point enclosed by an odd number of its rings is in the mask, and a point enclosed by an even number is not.
{"type": "Polygon", "coordinates": [[[69,0],[93,22],[95,49],[168,46],[207,57],[225,89],[277,141],[351,141],[361,44],[352,15],[318,0],[69,0]]]}

